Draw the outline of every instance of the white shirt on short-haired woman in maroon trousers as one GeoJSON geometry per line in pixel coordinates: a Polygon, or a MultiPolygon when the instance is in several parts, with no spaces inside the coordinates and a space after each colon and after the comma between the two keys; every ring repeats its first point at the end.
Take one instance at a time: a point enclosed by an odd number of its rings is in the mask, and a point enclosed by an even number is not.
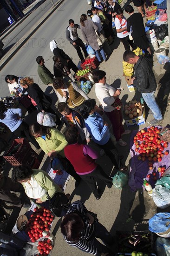
{"type": "Polygon", "coordinates": [[[95,93],[96,97],[100,101],[105,112],[111,112],[115,108],[111,106],[115,99],[113,95],[115,94],[116,90],[112,86],[108,85],[107,83],[96,83],[95,85],[95,93]]]}

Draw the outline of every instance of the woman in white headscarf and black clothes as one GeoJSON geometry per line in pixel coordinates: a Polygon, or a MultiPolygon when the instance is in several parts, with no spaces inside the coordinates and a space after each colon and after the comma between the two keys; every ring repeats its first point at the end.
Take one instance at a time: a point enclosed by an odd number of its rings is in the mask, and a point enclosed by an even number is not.
{"type": "Polygon", "coordinates": [[[72,59],[67,54],[65,54],[62,49],[59,49],[55,40],[52,40],[50,42],[50,50],[52,51],[54,56],[60,57],[62,63],[65,66],[67,66],[69,69],[72,68],[75,73],[78,71],[78,67],[76,66],[76,64],[74,64],[72,59]]]}

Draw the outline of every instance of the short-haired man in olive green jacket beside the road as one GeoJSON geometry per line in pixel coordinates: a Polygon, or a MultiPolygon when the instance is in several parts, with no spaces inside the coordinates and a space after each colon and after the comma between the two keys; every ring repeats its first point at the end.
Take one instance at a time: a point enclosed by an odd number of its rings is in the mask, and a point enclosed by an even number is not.
{"type": "Polygon", "coordinates": [[[44,59],[42,56],[38,56],[36,58],[36,61],[38,63],[37,72],[39,74],[39,78],[41,81],[46,84],[52,86],[53,83],[53,74],[50,72],[50,70],[44,65],[44,59]]]}

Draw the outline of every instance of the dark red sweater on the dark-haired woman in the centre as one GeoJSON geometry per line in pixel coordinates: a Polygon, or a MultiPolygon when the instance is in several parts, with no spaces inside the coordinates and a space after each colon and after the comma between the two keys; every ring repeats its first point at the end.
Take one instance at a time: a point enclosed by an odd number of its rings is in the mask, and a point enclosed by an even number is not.
{"type": "Polygon", "coordinates": [[[72,163],[78,174],[91,172],[97,167],[97,163],[89,155],[84,155],[83,144],[67,145],[64,148],[66,158],[72,163]]]}

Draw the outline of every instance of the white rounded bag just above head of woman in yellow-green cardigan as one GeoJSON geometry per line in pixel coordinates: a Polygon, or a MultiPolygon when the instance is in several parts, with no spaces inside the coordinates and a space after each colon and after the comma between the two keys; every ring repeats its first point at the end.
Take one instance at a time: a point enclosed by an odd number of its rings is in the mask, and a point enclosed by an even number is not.
{"type": "Polygon", "coordinates": [[[44,125],[44,126],[55,126],[56,125],[56,115],[53,115],[51,113],[46,113],[46,112],[39,112],[39,114],[37,115],[37,122],[40,125],[44,125]]]}

